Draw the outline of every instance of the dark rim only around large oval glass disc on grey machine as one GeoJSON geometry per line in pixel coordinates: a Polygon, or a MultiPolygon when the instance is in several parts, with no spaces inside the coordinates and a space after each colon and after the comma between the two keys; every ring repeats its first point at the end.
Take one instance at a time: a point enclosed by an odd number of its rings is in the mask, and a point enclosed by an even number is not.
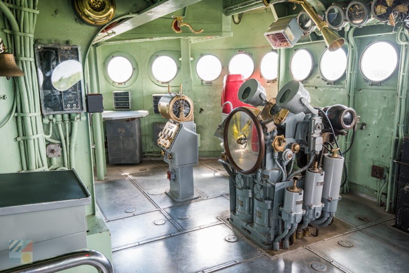
{"type": "Polygon", "coordinates": [[[263,130],[261,128],[260,122],[258,121],[257,117],[254,115],[254,113],[251,110],[249,110],[249,109],[247,109],[245,107],[234,108],[233,111],[231,111],[229,116],[226,118],[226,121],[224,123],[223,135],[224,135],[223,144],[224,144],[224,149],[226,150],[226,156],[228,157],[229,162],[233,165],[233,167],[242,174],[254,173],[260,167],[261,163],[263,162],[264,152],[265,152],[263,130]],[[232,155],[230,153],[230,149],[229,149],[229,141],[227,140],[227,135],[228,135],[228,130],[229,130],[229,123],[230,123],[234,113],[239,112],[239,111],[245,112],[252,119],[253,123],[256,125],[257,133],[259,134],[259,139],[258,139],[259,140],[259,147],[260,147],[259,155],[257,157],[256,164],[252,168],[250,168],[248,170],[241,169],[234,162],[234,160],[232,158],[232,155]]]}

